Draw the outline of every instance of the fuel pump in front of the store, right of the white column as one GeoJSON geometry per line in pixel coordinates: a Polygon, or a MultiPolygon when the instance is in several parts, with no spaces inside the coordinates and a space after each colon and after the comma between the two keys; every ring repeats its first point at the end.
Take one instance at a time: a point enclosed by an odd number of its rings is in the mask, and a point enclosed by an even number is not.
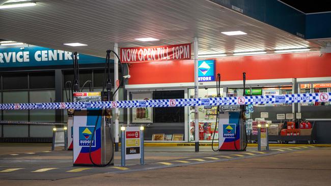
{"type": "MultiPolygon", "coordinates": [[[[218,86],[220,76],[217,74],[218,86]]],[[[245,96],[246,73],[243,73],[243,96],[245,96]]],[[[218,94],[218,97],[220,94],[218,94]]],[[[243,151],[247,147],[245,129],[245,105],[222,105],[217,108],[216,126],[218,123],[218,149],[214,151],[243,151]]],[[[216,128],[216,127],[215,127],[216,128]]],[[[214,138],[213,138],[214,139],[214,138]]],[[[213,146],[212,146],[213,147],[213,146]]]]}

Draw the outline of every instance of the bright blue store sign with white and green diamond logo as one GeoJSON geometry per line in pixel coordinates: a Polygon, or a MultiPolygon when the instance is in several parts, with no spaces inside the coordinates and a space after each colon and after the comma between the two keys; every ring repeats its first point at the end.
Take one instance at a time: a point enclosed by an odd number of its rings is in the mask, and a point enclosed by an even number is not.
{"type": "Polygon", "coordinates": [[[215,60],[198,61],[198,78],[199,81],[215,80],[215,60]]]}

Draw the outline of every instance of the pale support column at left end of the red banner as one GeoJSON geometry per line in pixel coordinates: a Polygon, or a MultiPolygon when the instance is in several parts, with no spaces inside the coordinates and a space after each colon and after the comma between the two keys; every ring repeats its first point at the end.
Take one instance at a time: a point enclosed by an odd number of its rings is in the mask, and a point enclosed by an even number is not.
{"type": "MultiPolygon", "coordinates": [[[[118,54],[118,44],[115,43],[114,44],[114,52],[118,54]]],[[[123,72],[122,72],[123,73],[123,72]]],[[[118,58],[114,55],[114,88],[115,90],[117,89],[117,81],[118,81],[118,58]]],[[[114,101],[118,101],[118,93],[119,91],[116,92],[115,97],[114,97],[114,101]]],[[[115,108],[115,151],[118,151],[118,142],[119,142],[119,112],[118,112],[118,108],[115,108]]]]}

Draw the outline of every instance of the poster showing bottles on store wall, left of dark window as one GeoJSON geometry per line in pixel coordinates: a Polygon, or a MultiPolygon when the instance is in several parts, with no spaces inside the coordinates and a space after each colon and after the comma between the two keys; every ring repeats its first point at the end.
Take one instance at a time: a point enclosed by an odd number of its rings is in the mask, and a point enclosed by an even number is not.
{"type": "MultiPolygon", "coordinates": [[[[132,100],[151,100],[152,94],[145,93],[132,93],[132,100]]],[[[132,108],[132,123],[151,123],[152,122],[152,108],[132,108]]]]}

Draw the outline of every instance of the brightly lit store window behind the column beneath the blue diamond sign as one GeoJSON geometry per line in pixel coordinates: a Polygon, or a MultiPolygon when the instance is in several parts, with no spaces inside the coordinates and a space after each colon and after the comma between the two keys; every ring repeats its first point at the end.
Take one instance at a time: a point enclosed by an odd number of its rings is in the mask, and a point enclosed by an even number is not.
{"type": "MultiPolygon", "coordinates": [[[[221,97],[223,97],[223,88],[220,88],[221,97]]],[[[194,89],[189,89],[189,98],[194,98],[194,89]]],[[[199,98],[213,98],[216,97],[216,88],[199,88],[199,98]]],[[[215,139],[218,139],[218,127],[216,125],[216,106],[199,106],[199,141],[211,142],[215,133],[215,139]]],[[[195,140],[195,110],[194,107],[189,107],[188,110],[188,141],[195,140]]]]}

